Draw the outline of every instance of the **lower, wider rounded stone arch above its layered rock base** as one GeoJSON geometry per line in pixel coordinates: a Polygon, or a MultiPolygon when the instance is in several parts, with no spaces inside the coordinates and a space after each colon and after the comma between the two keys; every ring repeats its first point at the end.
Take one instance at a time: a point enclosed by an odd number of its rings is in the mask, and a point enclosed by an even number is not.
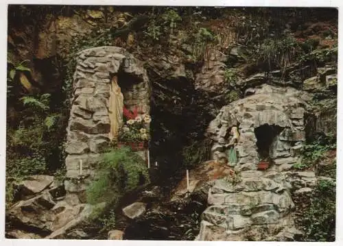
{"type": "Polygon", "coordinates": [[[273,125],[279,129],[270,146],[270,152],[278,166],[276,168],[290,167],[296,162],[294,151],[305,141],[304,114],[307,100],[309,95],[294,88],[264,85],[254,95],[224,106],[210,123],[206,133],[213,139],[213,156],[216,151],[225,151],[224,145],[230,141],[230,128],[238,125],[238,167],[242,171],[255,170],[259,161],[255,132],[263,125],[273,125]]]}

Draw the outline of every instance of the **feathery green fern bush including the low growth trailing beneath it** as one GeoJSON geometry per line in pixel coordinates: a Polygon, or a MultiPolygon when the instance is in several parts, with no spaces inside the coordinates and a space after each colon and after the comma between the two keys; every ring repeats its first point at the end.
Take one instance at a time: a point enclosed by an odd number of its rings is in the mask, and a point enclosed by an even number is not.
{"type": "Polygon", "coordinates": [[[86,190],[87,203],[96,207],[90,220],[101,223],[103,230],[113,228],[114,209],[119,199],[149,182],[143,159],[130,148],[120,147],[104,153],[97,167],[97,179],[86,190]]]}

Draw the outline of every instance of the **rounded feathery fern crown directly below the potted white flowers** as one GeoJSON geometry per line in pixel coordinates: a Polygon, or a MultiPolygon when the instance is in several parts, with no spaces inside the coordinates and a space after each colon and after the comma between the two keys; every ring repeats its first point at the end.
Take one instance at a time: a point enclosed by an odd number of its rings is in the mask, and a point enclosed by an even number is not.
{"type": "Polygon", "coordinates": [[[143,159],[127,147],[104,153],[99,178],[87,189],[89,204],[112,204],[121,195],[149,182],[143,159]]]}

